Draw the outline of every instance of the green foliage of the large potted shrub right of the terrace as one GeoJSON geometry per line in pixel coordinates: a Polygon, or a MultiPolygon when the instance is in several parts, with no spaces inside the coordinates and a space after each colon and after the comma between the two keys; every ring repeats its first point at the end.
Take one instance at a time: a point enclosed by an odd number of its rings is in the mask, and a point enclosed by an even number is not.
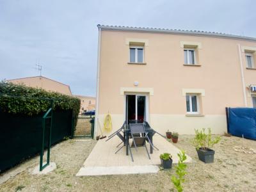
{"type": "Polygon", "coordinates": [[[193,140],[193,145],[198,148],[211,148],[213,145],[220,141],[220,136],[216,136],[216,138],[212,139],[211,128],[208,129],[208,134],[205,133],[205,128],[201,131],[195,129],[195,138],[193,140]]]}

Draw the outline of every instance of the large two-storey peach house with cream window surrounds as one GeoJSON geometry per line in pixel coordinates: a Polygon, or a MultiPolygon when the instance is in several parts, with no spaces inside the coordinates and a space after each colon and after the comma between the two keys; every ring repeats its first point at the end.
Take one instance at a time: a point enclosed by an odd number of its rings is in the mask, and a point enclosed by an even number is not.
{"type": "MultiPolygon", "coordinates": [[[[256,38],[156,28],[102,26],[97,66],[98,122],[147,120],[194,134],[227,131],[225,107],[256,107],[256,38]]],[[[97,134],[95,134],[97,135],[97,134]]]]}

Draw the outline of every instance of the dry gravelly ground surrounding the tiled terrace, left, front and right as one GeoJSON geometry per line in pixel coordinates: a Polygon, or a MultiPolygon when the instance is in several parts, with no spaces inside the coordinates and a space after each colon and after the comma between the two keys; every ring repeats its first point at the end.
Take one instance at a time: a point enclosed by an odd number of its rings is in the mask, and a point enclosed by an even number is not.
{"type": "MultiPolygon", "coordinates": [[[[194,160],[188,164],[184,191],[256,191],[256,154],[234,150],[234,146],[242,144],[241,138],[221,137],[214,147],[216,155],[212,164],[198,160],[191,146],[192,138],[181,135],[174,144],[194,160]]],[[[174,169],[156,174],[76,177],[96,142],[68,140],[55,145],[51,150],[51,161],[57,164],[54,172],[31,175],[31,169],[38,163],[36,157],[24,163],[28,166],[26,170],[1,184],[0,191],[173,191],[170,177],[174,169]]],[[[244,140],[243,143],[256,149],[256,141],[244,140]]]]}

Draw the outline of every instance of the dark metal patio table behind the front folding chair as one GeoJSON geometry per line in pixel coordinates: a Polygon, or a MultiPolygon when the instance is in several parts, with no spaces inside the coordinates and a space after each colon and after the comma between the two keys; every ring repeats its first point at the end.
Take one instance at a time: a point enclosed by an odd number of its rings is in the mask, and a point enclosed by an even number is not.
{"type": "MultiPolygon", "coordinates": [[[[145,127],[145,131],[148,134],[148,138],[153,143],[153,134],[154,134],[154,129],[152,129],[146,121],[140,121],[140,120],[131,120],[127,126],[124,128],[124,137],[125,137],[125,147],[126,147],[126,155],[129,156],[129,138],[131,136],[131,131],[130,131],[130,124],[138,124],[138,123],[143,123],[145,127]]],[[[150,145],[150,154],[153,154],[153,147],[150,145]]]]}

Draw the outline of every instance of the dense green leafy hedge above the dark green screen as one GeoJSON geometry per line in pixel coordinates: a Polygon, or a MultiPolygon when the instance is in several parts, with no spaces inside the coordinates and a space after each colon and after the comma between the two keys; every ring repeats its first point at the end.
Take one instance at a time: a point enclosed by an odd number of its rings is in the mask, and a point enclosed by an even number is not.
{"type": "Polygon", "coordinates": [[[41,88],[31,88],[24,84],[0,82],[0,111],[3,113],[38,115],[51,108],[73,110],[73,116],[77,116],[81,100],[76,97],[63,95],[57,92],[47,92],[41,88]]]}

